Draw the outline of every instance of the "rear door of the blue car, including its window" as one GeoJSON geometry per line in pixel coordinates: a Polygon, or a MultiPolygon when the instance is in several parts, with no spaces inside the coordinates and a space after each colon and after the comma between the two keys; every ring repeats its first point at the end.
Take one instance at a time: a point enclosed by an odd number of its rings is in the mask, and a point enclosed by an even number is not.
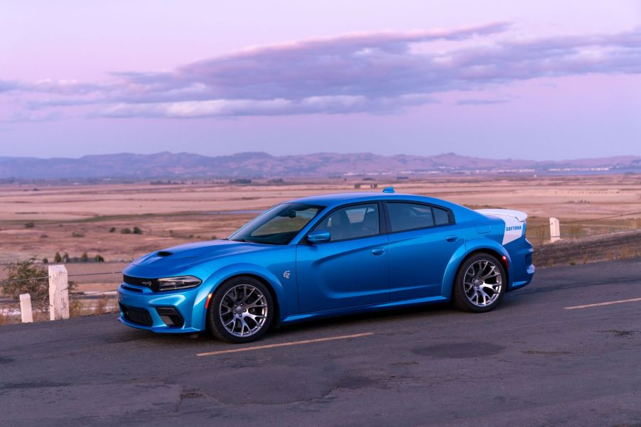
{"type": "Polygon", "coordinates": [[[438,296],[443,274],[464,244],[453,212],[418,202],[386,202],[390,299],[438,296]]]}

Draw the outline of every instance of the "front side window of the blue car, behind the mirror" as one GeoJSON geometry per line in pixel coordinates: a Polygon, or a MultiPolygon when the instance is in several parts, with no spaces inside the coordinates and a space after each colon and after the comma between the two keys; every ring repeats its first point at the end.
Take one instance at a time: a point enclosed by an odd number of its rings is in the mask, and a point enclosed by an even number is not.
{"type": "Polygon", "coordinates": [[[335,210],[314,230],[330,232],[330,241],[357,239],[379,234],[378,204],[355,205],[335,210]]]}

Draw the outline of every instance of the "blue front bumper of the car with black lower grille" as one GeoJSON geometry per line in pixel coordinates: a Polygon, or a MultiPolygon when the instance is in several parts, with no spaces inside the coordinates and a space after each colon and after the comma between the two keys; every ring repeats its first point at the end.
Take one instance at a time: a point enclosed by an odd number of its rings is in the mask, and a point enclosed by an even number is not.
{"type": "Polygon", "coordinates": [[[203,326],[194,325],[193,321],[198,290],[197,287],[158,293],[142,286],[121,285],[118,288],[119,320],[131,328],[156,333],[200,333],[203,326]]]}

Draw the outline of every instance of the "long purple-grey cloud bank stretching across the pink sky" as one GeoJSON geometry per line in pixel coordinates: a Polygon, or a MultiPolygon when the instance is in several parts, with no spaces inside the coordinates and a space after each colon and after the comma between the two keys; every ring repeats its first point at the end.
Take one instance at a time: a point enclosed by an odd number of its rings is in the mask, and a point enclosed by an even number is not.
{"type": "MultiPolygon", "coordinates": [[[[218,117],[396,112],[438,94],[538,77],[641,73],[641,28],[516,39],[510,24],[364,33],[248,48],[166,72],[118,72],[106,83],[0,81],[0,92],[48,94],[31,109],[95,104],[94,117],[218,117]],[[3,89],[4,88],[4,89],[3,89]]],[[[462,99],[459,105],[500,99],[462,99]]]]}

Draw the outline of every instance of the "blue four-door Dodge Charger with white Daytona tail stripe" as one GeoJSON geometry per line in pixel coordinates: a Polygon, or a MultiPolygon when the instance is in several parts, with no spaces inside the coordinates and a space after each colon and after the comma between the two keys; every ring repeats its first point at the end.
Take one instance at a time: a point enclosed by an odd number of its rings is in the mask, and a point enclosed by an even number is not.
{"type": "Polygon", "coordinates": [[[270,326],[424,303],[486,312],[532,280],[526,217],[393,188],[290,200],[227,239],[131,263],[120,321],[249,342],[270,326]]]}

